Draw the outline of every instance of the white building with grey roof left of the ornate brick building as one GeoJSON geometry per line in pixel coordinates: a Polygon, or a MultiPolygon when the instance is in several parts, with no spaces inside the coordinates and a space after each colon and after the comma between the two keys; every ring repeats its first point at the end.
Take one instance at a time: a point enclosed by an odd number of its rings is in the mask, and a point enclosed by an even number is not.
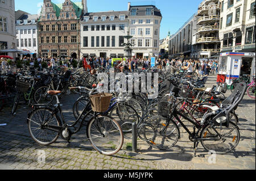
{"type": "Polygon", "coordinates": [[[16,18],[16,41],[18,49],[32,52],[33,57],[38,57],[38,15],[20,13],[15,11],[16,18]]]}

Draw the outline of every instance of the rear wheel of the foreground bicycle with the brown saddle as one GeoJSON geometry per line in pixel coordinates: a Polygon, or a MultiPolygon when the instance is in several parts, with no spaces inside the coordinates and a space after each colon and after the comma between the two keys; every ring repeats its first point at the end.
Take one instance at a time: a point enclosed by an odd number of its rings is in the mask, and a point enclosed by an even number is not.
{"type": "Polygon", "coordinates": [[[31,137],[40,145],[50,145],[60,136],[59,132],[47,129],[48,125],[61,125],[59,117],[47,108],[34,110],[28,116],[27,123],[31,137]]]}

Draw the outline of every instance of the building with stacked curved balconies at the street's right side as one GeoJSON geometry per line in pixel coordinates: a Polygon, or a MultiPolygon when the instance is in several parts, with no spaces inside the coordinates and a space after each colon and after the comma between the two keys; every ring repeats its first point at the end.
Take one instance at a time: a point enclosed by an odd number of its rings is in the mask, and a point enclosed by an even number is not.
{"type": "Polygon", "coordinates": [[[220,53],[220,38],[218,36],[220,23],[220,2],[204,0],[197,11],[196,40],[193,43],[195,58],[213,58],[220,53]]]}

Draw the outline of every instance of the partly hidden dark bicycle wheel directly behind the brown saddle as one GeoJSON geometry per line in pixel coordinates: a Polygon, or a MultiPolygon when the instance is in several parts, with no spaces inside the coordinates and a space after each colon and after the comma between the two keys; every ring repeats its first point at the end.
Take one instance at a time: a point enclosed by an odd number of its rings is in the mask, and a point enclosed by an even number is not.
{"type": "Polygon", "coordinates": [[[39,87],[34,92],[34,101],[36,104],[50,104],[53,100],[53,95],[47,94],[47,91],[52,90],[49,86],[39,87]]]}

